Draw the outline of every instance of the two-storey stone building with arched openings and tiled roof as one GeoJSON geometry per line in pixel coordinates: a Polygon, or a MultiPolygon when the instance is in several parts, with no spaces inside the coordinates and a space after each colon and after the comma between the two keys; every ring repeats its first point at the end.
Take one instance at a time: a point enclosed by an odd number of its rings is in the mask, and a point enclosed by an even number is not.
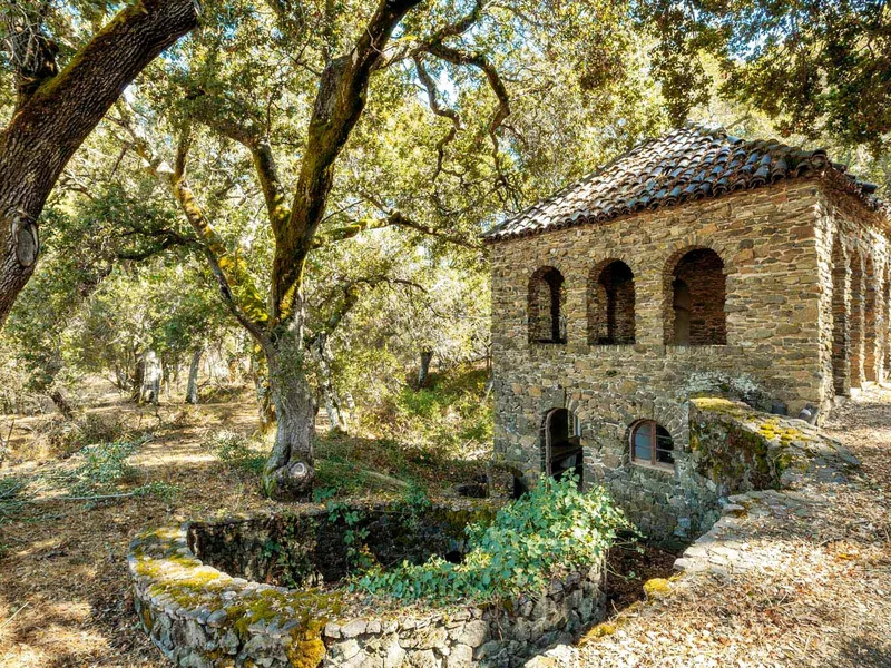
{"type": "Polygon", "coordinates": [[[698,532],[692,396],[822,419],[891,370],[874,190],[825,151],[687,126],[491,229],[497,455],[606,484],[655,538],[698,532]]]}

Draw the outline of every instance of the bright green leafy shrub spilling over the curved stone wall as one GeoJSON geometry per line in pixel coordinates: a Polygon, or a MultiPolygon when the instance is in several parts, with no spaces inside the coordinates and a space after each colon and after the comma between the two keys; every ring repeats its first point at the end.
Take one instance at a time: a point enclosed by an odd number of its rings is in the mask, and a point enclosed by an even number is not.
{"type": "Polygon", "coordinates": [[[493,522],[467,528],[462,563],[432,557],[425,563],[374,567],[353,588],[396,599],[488,599],[544,589],[552,576],[599,561],[619,529],[629,527],[603,489],[580,492],[576,480],[542,478],[499,510],[493,522]]]}

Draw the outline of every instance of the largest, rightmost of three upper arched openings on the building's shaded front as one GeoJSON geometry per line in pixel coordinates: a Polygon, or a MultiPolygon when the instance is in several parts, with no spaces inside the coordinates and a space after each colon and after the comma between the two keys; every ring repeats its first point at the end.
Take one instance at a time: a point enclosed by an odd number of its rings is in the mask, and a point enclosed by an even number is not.
{"type": "Polygon", "coordinates": [[[724,345],[726,282],[724,262],[709,248],[682,256],[667,277],[670,304],[665,330],[667,344],[724,345]]]}

